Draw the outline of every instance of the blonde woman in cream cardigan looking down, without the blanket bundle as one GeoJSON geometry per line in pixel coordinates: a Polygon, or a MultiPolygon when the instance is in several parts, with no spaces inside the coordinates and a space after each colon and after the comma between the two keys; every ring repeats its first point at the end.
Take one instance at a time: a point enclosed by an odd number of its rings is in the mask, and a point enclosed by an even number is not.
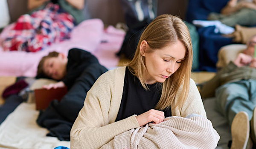
{"type": "Polygon", "coordinates": [[[192,43],[183,21],[170,14],[154,19],[127,66],[102,74],[84,101],[71,133],[71,149],[98,149],[130,129],[165,117],[206,117],[190,79],[192,43]]]}

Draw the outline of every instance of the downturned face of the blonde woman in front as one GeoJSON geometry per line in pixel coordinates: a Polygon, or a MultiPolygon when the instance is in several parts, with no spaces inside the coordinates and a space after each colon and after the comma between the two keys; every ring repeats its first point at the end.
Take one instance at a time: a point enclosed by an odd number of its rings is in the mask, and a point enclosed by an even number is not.
{"type": "MultiPolygon", "coordinates": [[[[146,41],[145,44],[147,44],[146,41]]],[[[163,49],[155,49],[154,52],[143,53],[147,69],[145,74],[146,83],[163,83],[180,67],[182,60],[185,58],[185,53],[186,48],[179,40],[177,43],[166,46],[163,49]]]]}

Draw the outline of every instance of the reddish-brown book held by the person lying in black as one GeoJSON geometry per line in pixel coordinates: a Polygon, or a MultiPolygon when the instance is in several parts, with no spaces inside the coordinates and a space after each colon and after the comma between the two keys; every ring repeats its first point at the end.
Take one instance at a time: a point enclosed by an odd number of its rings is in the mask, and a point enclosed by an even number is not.
{"type": "Polygon", "coordinates": [[[67,87],[57,89],[35,89],[35,105],[37,110],[44,110],[52,100],[58,101],[67,94],[67,87]]]}

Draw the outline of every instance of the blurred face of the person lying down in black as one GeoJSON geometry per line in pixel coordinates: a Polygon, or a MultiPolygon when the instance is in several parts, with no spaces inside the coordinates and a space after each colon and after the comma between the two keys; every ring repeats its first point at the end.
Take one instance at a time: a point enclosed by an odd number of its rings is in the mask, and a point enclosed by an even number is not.
{"type": "Polygon", "coordinates": [[[54,80],[61,80],[67,73],[67,57],[59,54],[58,57],[49,57],[44,61],[44,73],[54,80]]]}

